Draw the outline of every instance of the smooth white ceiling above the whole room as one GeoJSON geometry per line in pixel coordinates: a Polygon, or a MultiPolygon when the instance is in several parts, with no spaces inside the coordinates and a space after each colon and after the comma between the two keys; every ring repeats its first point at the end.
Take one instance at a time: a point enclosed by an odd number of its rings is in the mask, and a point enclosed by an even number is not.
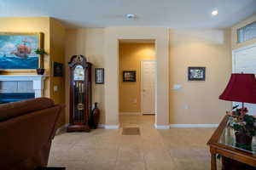
{"type": "Polygon", "coordinates": [[[255,13],[256,0],[0,0],[0,17],[50,16],[67,27],[230,27],[255,13]]]}

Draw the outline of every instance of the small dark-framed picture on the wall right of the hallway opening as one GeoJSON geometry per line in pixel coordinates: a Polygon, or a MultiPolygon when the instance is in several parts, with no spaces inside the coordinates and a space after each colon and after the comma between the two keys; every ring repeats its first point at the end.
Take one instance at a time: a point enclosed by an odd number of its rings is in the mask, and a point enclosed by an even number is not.
{"type": "Polygon", "coordinates": [[[189,66],[188,77],[189,77],[189,81],[205,81],[206,80],[206,67],[189,66]]]}

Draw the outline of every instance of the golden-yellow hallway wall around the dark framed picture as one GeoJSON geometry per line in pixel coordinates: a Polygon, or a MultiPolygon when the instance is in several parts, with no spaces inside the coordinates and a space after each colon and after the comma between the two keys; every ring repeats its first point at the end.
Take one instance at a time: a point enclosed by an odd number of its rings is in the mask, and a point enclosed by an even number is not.
{"type": "Polygon", "coordinates": [[[154,43],[119,43],[119,112],[141,112],[141,61],[154,59],[154,43]],[[136,82],[123,82],[123,71],[136,71],[136,82]]]}

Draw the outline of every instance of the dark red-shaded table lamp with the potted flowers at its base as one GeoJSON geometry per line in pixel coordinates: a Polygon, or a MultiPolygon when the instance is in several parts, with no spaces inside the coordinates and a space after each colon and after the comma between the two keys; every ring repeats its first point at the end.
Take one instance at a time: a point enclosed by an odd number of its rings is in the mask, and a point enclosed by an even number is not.
{"type": "Polygon", "coordinates": [[[256,135],[254,125],[256,118],[247,115],[244,103],[256,104],[256,79],[253,74],[232,74],[230,82],[218,99],[242,103],[241,109],[232,111],[231,127],[235,130],[236,146],[244,150],[252,150],[253,136],[256,135]]]}

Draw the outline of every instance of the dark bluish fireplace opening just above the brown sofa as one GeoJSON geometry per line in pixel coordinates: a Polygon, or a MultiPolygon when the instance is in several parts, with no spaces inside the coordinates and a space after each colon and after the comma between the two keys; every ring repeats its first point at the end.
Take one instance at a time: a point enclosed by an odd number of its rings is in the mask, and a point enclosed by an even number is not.
{"type": "Polygon", "coordinates": [[[35,98],[34,93],[0,93],[0,104],[35,98]]]}

